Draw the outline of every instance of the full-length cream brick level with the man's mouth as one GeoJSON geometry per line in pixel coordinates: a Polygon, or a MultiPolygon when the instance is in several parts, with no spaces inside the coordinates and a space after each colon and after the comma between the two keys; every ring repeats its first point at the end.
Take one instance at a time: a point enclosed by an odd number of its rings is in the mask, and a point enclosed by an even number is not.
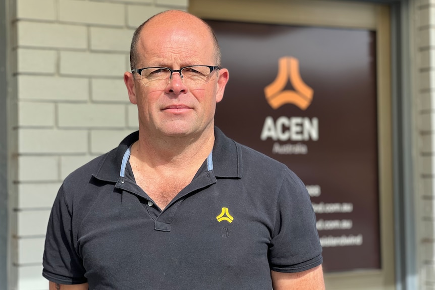
{"type": "Polygon", "coordinates": [[[59,104],[63,128],[123,128],[125,109],[118,104],[59,104]]]}

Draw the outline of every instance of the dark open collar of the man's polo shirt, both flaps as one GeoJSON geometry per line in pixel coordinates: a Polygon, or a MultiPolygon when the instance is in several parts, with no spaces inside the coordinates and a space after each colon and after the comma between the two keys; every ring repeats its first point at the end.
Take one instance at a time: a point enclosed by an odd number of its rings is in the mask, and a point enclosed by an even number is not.
{"type": "MultiPolygon", "coordinates": [[[[229,139],[217,127],[214,127],[214,137],[212,154],[214,176],[216,178],[241,178],[241,145],[229,139]]],[[[120,176],[124,153],[138,139],[139,131],[124,138],[118,148],[113,149],[104,156],[97,171],[92,176],[101,181],[116,183],[120,176]]]]}

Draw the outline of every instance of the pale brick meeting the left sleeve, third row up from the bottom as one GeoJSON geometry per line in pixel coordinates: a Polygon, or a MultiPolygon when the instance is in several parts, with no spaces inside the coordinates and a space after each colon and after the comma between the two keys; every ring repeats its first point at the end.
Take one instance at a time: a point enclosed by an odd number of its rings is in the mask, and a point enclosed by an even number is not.
{"type": "Polygon", "coordinates": [[[47,232],[50,210],[23,210],[18,212],[18,236],[44,236],[47,232]]]}

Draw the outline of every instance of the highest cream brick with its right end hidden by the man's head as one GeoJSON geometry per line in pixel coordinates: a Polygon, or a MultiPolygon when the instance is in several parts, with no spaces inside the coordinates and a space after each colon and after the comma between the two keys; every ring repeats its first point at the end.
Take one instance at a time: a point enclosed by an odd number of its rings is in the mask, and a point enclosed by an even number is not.
{"type": "Polygon", "coordinates": [[[91,50],[122,51],[130,53],[130,44],[134,30],[91,27],[91,50]]]}

